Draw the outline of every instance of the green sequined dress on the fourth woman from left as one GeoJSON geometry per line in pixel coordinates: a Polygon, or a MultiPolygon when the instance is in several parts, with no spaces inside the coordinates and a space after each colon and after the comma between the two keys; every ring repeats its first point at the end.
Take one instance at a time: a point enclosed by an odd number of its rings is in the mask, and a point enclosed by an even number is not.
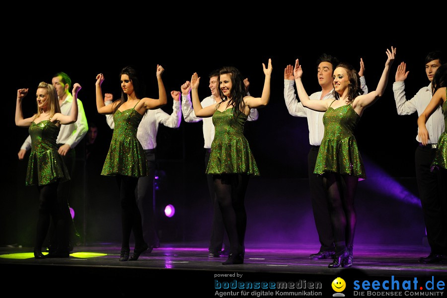
{"type": "Polygon", "coordinates": [[[315,174],[334,172],[366,178],[362,157],[353,135],[359,120],[360,116],[351,104],[336,109],[329,106],[323,115],[324,136],[318,150],[315,174]]]}

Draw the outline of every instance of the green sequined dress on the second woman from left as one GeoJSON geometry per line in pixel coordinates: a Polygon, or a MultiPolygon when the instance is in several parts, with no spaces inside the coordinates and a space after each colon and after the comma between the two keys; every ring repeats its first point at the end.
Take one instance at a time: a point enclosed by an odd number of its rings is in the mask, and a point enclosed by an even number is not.
{"type": "Polygon", "coordinates": [[[135,110],[116,110],[113,115],[115,129],[101,175],[147,176],[148,164],[140,141],[137,139],[138,125],[143,116],[135,110]]]}

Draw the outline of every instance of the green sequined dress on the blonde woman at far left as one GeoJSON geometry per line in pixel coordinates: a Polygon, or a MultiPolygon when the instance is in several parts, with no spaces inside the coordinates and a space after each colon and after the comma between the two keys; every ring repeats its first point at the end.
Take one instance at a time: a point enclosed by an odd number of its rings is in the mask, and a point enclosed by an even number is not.
{"type": "Polygon", "coordinates": [[[56,140],[60,128],[50,120],[31,123],[31,152],[25,185],[46,185],[70,179],[67,167],[58,152],[56,140]]]}

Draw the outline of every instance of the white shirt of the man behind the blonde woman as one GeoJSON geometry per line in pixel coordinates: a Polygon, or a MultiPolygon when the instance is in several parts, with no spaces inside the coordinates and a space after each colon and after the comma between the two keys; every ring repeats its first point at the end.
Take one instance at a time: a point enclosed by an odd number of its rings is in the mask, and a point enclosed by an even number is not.
{"type": "MultiPolygon", "coordinates": [[[[62,114],[70,115],[70,113],[72,112],[72,102],[73,96],[72,94],[68,94],[64,102],[61,104],[62,114]]],[[[82,102],[77,99],[77,120],[72,124],[61,125],[56,143],[67,144],[70,145],[71,148],[74,148],[77,144],[79,144],[87,131],[88,124],[87,118],[85,117],[84,107],[82,106],[82,102]]],[[[30,148],[31,136],[28,136],[20,149],[28,150],[30,148]]]]}

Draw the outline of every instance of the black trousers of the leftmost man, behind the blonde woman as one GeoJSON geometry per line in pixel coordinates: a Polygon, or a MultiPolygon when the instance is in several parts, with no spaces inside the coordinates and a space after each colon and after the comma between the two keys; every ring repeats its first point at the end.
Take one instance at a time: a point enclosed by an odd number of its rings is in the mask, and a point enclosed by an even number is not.
{"type": "MultiPolygon", "coordinates": [[[[63,146],[64,144],[58,144],[58,148],[63,146]]],[[[62,155],[61,155],[62,156],[62,155]]],[[[78,237],[79,234],[74,226],[74,221],[72,219],[72,215],[70,213],[70,206],[69,206],[69,200],[70,200],[70,187],[71,187],[71,181],[73,179],[73,173],[74,173],[74,166],[76,164],[76,152],[74,151],[74,148],[70,149],[65,156],[62,156],[62,159],[64,160],[65,166],[67,167],[67,170],[70,175],[70,180],[59,183],[58,186],[58,206],[61,208],[61,216],[64,218],[64,223],[67,224],[65,227],[66,232],[68,233],[69,240],[70,238],[78,237]]],[[[56,238],[56,234],[54,232],[56,228],[56,223],[52,220],[52,224],[50,225],[49,230],[49,237],[50,237],[50,247],[51,251],[54,251],[57,249],[56,246],[54,246],[55,243],[58,243],[58,239],[56,238]]],[[[65,251],[65,248],[63,249],[65,251]]]]}

